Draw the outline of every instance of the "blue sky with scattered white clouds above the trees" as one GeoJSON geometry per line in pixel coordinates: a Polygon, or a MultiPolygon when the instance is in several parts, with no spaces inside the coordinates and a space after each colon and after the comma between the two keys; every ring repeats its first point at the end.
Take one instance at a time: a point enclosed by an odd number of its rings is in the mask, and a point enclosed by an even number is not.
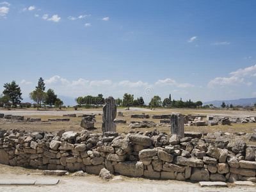
{"type": "Polygon", "coordinates": [[[256,97],[256,1],[0,1],[0,92],[256,97]]]}

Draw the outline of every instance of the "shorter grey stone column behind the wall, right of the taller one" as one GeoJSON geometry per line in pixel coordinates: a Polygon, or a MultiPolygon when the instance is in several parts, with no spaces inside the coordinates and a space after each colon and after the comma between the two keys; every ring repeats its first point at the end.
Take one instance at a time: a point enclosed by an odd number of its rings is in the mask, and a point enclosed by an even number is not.
{"type": "Polygon", "coordinates": [[[177,134],[181,138],[184,138],[184,115],[181,113],[172,113],[171,134],[177,134]]]}

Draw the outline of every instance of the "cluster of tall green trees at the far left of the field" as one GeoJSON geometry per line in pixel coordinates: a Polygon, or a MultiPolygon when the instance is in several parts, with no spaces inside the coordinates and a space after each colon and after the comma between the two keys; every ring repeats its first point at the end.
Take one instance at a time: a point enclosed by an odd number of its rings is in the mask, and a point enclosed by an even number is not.
{"type": "MultiPolygon", "coordinates": [[[[0,95],[0,107],[3,108],[5,106],[9,108],[11,106],[17,107],[19,105],[20,108],[30,108],[32,105],[31,103],[21,102],[23,100],[21,95],[20,86],[19,84],[16,84],[15,81],[12,81],[12,83],[5,83],[3,94],[0,95]]],[[[29,98],[36,102],[34,106],[37,106],[37,109],[41,108],[42,104],[44,106],[49,105],[51,107],[54,105],[55,108],[60,109],[61,106],[63,106],[63,101],[57,97],[54,90],[49,89],[45,92],[45,83],[42,77],[38,79],[38,85],[35,90],[29,93],[29,98]]]]}

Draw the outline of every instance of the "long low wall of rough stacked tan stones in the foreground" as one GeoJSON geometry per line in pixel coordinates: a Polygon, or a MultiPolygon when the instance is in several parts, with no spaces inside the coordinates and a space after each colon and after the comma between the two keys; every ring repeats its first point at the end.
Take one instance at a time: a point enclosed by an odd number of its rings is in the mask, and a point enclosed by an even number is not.
{"type": "Polygon", "coordinates": [[[185,133],[185,138],[151,132],[118,134],[88,131],[47,132],[0,129],[0,163],[42,170],[102,168],[131,177],[176,180],[255,181],[255,146],[243,140],[185,133]]]}

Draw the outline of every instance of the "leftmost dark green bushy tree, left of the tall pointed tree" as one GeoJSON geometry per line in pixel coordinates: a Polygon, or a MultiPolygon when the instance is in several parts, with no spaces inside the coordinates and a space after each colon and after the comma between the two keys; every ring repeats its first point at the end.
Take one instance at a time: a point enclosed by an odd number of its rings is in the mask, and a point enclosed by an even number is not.
{"type": "Polygon", "coordinates": [[[20,87],[15,83],[15,81],[12,81],[12,83],[5,83],[4,88],[5,90],[3,91],[3,94],[9,98],[13,106],[16,106],[21,100],[23,100],[21,97],[22,93],[20,87]]]}

